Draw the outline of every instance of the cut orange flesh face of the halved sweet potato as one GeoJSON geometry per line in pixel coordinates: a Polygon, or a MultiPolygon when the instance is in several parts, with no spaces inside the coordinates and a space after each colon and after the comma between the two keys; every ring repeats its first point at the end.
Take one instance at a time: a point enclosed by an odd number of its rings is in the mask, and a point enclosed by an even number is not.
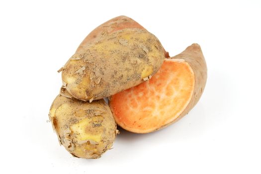
{"type": "Polygon", "coordinates": [[[149,132],[172,122],[192,96],[193,78],[186,62],[166,59],[150,81],[111,97],[116,122],[133,132],[149,132]]]}

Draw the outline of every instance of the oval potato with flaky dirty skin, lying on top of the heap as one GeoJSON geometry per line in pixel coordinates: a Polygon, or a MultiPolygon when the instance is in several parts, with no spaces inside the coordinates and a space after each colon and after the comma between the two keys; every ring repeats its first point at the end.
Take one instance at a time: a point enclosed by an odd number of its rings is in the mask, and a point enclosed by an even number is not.
{"type": "Polygon", "coordinates": [[[92,101],[139,85],[164,59],[164,48],[153,34],[127,28],[76,52],[64,66],[62,79],[73,97],[92,101]]]}

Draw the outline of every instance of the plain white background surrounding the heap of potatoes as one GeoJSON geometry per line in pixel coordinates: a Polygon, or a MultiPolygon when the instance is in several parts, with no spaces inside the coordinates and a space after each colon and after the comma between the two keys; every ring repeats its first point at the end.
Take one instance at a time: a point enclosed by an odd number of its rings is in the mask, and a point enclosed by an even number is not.
{"type": "Polygon", "coordinates": [[[0,1],[1,174],[261,174],[261,2],[0,1]],[[72,157],[48,120],[57,70],[99,24],[127,15],[171,56],[201,45],[205,91],[154,133],[123,131],[100,159],[72,157]]]}

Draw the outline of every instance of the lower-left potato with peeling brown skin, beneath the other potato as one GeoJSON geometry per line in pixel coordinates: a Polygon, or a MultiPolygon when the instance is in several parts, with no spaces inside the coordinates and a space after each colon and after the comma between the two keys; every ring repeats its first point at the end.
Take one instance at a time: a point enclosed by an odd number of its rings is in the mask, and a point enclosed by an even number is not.
{"type": "Polygon", "coordinates": [[[117,132],[103,99],[89,103],[58,95],[49,118],[60,144],[79,158],[99,158],[112,146],[117,132]]]}

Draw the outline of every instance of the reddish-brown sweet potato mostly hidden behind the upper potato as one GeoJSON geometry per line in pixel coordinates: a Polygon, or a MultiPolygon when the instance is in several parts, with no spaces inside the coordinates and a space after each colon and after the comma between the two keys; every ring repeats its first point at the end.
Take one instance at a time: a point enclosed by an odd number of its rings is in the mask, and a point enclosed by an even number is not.
{"type": "MultiPolygon", "coordinates": [[[[87,35],[87,37],[82,41],[82,43],[80,44],[76,52],[83,50],[87,46],[99,41],[102,37],[105,37],[110,33],[125,28],[139,28],[139,29],[146,30],[143,26],[141,26],[138,22],[136,22],[130,17],[127,16],[114,17],[104,22],[103,24],[99,25],[94,30],[92,30],[87,35]]],[[[166,58],[170,57],[167,51],[164,50],[164,52],[166,58]]]]}

